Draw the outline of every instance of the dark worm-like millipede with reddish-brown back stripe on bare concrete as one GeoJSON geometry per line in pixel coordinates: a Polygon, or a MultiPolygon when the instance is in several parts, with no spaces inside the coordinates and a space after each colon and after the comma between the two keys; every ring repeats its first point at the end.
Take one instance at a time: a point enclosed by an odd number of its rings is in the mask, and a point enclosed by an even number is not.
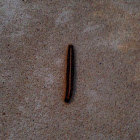
{"type": "Polygon", "coordinates": [[[69,103],[72,97],[74,83],[74,46],[68,46],[67,69],[66,69],[66,93],[65,102],[69,103]]]}

